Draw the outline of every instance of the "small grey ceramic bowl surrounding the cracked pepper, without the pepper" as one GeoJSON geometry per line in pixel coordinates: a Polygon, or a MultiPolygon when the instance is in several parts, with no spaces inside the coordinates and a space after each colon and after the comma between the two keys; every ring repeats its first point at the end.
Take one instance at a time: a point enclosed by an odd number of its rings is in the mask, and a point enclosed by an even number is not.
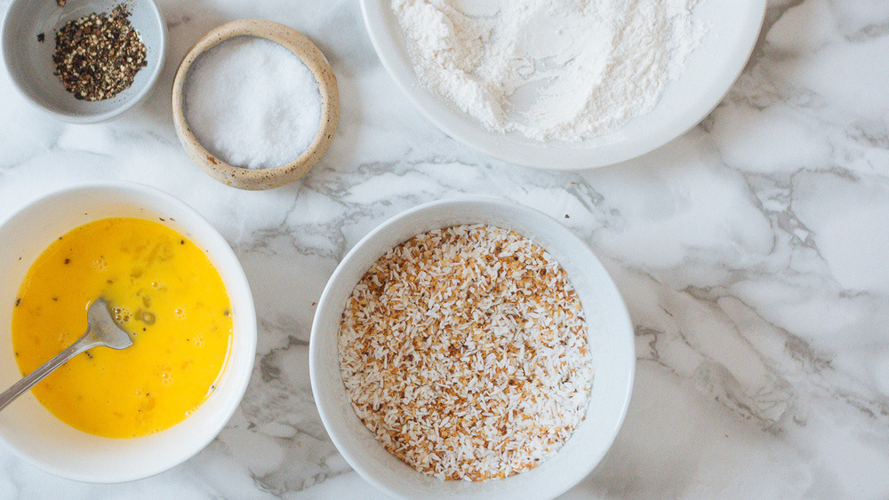
{"type": "Polygon", "coordinates": [[[164,67],[166,24],[153,0],[68,0],[63,6],[53,0],[13,0],[4,18],[2,44],[6,69],[25,99],[59,120],[96,123],[124,113],[148,95],[164,67]],[[116,4],[132,12],[130,22],[148,49],[148,66],[140,69],[130,88],[111,99],[75,99],[53,75],[56,31],[92,12],[110,13],[116,4]]]}

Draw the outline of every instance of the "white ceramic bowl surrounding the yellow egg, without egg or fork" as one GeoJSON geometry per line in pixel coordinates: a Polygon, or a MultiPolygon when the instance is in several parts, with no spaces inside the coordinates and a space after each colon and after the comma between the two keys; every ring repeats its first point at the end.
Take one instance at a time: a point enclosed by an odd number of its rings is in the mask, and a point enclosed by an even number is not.
{"type": "Polygon", "coordinates": [[[21,458],[61,477],[89,482],[137,480],[188,460],[212,441],[244,396],[256,352],[256,314],[244,271],[224,238],[195,210],[153,187],[93,182],[30,203],[0,225],[0,387],[19,380],[12,353],[12,308],[22,278],[60,234],[108,217],[162,219],[204,249],[228,290],[234,314],[229,358],[212,395],[170,429],[109,439],[62,423],[32,393],[0,412],[0,440],[21,458]]]}

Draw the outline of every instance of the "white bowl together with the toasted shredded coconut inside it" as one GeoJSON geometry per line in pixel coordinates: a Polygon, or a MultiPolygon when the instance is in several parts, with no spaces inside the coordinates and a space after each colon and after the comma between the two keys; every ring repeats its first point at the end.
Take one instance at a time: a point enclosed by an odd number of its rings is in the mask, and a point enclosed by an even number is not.
{"type": "Polygon", "coordinates": [[[552,498],[629,405],[627,308],[589,246],[512,202],[430,202],[357,242],[318,302],[309,370],[342,456],[398,498],[552,498]]]}

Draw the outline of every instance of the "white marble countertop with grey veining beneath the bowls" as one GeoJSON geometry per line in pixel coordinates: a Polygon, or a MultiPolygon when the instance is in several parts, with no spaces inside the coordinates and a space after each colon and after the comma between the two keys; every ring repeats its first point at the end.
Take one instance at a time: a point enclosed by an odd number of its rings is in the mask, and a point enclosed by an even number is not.
{"type": "Polygon", "coordinates": [[[438,131],[381,67],[355,0],[160,4],[164,74],[116,121],[54,122],[0,71],[0,217],[89,179],[138,181],[188,202],[251,282],[252,381],[220,436],[169,472],[83,484],[0,446],[0,497],[382,497],[319,420],[313,305],[373,226],[461,194],[558,218],[629,305],[629,415],[565,498],[889,497],[889,3],[770,2],[752,59],[703,123],[635,161],[577,173],[493,161],[438,131]],[[305,33],[340,83],[329,153],[305,179],[266,192],[205,176],[172,126],[176,64],[207,30],[244,18],[305,33]]]}

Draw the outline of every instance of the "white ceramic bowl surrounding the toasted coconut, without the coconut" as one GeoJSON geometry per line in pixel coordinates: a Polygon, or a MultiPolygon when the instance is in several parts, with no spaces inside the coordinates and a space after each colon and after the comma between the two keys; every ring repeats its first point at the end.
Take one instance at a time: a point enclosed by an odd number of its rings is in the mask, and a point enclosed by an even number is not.
{"type": "Polygon", "coordinates": [[[589,247],[540,211],[487,199],[431,202],[390,218],[358,242],[336,268],[318,301],[309,343],[312,391],[324,427],[342,456],[365,480],[402,498],[552,498],[582,480],[611,446],[632,392],[633,327],[614,283],[589,247]],[[589,324],[595,375],[587,416],[556,456],[505,480],[442,481],[392,456],[356,417],[340,376],[337,336],[346,300],[364,272],[387,250],[415,234],[485,223],[515,230],[563,266],[589,324]]]}

